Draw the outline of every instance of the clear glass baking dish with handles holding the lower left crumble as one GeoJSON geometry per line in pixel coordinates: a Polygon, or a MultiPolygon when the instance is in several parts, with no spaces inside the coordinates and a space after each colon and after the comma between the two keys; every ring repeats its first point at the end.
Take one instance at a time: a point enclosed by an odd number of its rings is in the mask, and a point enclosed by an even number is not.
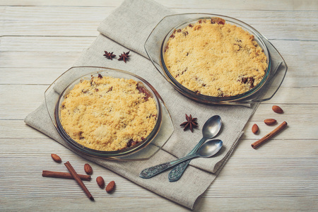
{"type": "Polygon", "coordinates": [[[51,86],[49,86],[49,88],[47,88],[45,91],[45,102],[49,116],[59,132],[59,135],[66,141],[66,145],[71,148],[71,150],[80,154],[84,153],[99,158],[116,160],[146,160],[154,155],[165,144],[173,132],[170,114],[155,88],[140,76],[119,69],[92,66],[73,67],[63,73],[51,86]],[[82,146],[80,143],[71,139],[66,133],[60,122],[61,102],[63,102],[66,95],[76,84],[83,80],[90,80],[92,76],[97,78],[98,74],[113,78],[133,79],[138,82],[139,87],[145,88],[148,94],[155,100],[158,117],[155,127],[146,139],[134,146],[124,148],[120,151],[98,151],[82,146]],[[163,124],[165,125],[163,126],[163,124]]]}

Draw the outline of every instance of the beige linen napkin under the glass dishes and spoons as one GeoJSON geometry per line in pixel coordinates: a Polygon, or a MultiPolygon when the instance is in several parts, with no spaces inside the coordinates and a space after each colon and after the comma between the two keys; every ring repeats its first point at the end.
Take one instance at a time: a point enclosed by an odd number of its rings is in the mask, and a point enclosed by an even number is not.
{"type": "MultiPolygon", "coordinates": [[[[136,73],[145,78],[161,95],[167,109],[170,111],[175,132],[167,141],[163,150],[158,151],[149,160],[114,161],[81,155],[87,160],[102,165],[136,184],[149,189],[156,194],[177,202],[188,208],[194,208],[194,203],[210,186],[216,175],[230,157],[242,135],[242,129],[258,104],[252,107],[232,105],[204,105],[185,98],[177,92],[163,76],[158,73],[150,60],[146,58],[143,44],[155,25],[172,11],[154,1],[126,0],[110,16],[102,21],[98,30],[100,35],[86,49],[74,66],[104,66],[122,69],[136,73]],[[131,51],[129,60],[118,61],[118,55],[131,51]],[[104,51],[114,52],[117,57],[106,59],[104,51]],[[183,131],[179,126],[185,120],[185,114],[198,118],[199,129],[183,131]],[[177,182],[169,182],[168,172],[151,179],[141,179],[139,172],[146,167],[165,163],[187,155],[202,137],[201,127],[209,117],[218,114],[223,120],[223,129],[217,137],[223,141],[222,151],[213,158],[198,158],[177,182]]],[[[275,65],[276,69],[278,64],[275,65]]],[[[56,85],[58,86],[58,85],[56,85]]],[[[41,131],[52,139],[69,148],[54,128],[45,103],[25,118],[25,123],[41,131]]]]}

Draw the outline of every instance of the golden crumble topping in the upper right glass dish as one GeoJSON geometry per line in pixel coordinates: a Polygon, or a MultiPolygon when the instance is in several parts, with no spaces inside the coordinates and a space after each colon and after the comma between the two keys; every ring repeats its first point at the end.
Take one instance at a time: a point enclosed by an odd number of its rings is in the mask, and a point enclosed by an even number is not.
{"type": "Polygon", "coordinates": [[[217,17],[175,30],[164,59],[182,86],[215,97],[239,95],[254,88],[268,66],[253,35],[217,17]]]}

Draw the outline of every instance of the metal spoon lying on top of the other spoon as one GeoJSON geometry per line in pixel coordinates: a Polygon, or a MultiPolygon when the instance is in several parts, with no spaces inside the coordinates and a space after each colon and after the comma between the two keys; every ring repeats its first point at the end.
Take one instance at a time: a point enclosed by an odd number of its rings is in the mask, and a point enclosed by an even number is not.
{"type": "Polygon", "coordinates": [[[215,155],[220,148],[222,147],[223,142],[219,139],[211,140],[204,145],[202,145],[199,148],[199,151],[192,155],[187,155],[184,158],[179,158],[177,160],[173,160],[172,162],[163,163],[160,165],[155,165],[153,167],[148,167],[145,170],[142,170],[139,174],[139,177],[141,178],[151,178],[155,175],[158,175],[160,172],[163,172],[164,170],[167,170],[168,168],[177,165],[179,163],[184,162],[185,160],[189,160],[191,158],[201,157],[201,158],[209,158],[213,155],[215,155]]]}

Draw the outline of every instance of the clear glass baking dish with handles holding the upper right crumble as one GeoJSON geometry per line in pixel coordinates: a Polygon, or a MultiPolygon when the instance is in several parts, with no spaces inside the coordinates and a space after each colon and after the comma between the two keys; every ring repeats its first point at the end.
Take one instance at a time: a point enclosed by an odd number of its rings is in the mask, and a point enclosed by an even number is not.
{"type": "Polygon", "coordinates": [[[285,64],[283,57],[281,57],[281,54],[279,54],[275,47],[273,47],[273,45],[271,45],[271,43],[266,40],[261,33],[252,28],[252,26],[228,16],[220,16],[209,13],[184,13],[165,16],[165,18],[160,20],[158,25],[155,26],[151,34],[148,36],[144,47],[155,68],[158,69],[158,71],[176,90],[182,93],[182,95],[185,95],[187,98],[206,104],[249,105],[253,102],[269,100],[281,86],[287,71],[287,65],[285,64]],[[243,30],[249,32],[251,35],[254,35],[255,41],[257,41],[261,49],[263,49],[266,54],[268,67],[264,78],[257,86],[248,90],[246,93],[230,97],[202,95],[182,86],[177,80],[175,80],[165,66],[163,55],[165,54],[165,48],[170,35],[172,35],[175,30],[182,29],[189,24],[194,24],[200,19],[211,19],[212,17],[223,18],[225,23],[237,25],[243,30]]]}

